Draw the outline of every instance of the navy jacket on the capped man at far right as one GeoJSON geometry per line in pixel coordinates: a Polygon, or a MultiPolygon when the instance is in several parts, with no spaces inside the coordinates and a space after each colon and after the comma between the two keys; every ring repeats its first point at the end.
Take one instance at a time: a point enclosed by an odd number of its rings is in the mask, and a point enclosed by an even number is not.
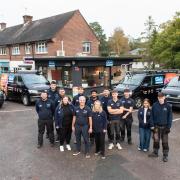
{"type": "Polygon", "coordinates": [[[172,125],[172,107],[165,102],[160,104],[159,101],[153,104],[151,113],[151,127],[166,126],[171,128],[172,125]]]}

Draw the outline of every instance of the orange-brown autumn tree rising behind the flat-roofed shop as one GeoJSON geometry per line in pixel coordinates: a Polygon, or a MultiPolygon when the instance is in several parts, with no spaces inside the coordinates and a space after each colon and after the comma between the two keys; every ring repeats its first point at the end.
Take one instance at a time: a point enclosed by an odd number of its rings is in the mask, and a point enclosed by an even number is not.
{"type": "Polygon", "coordinates": [[[112,37],[109,38],[109,46],[116,55],[126,54],[129,51],[128,38],[121,28],[115,28],[112,37]]]}

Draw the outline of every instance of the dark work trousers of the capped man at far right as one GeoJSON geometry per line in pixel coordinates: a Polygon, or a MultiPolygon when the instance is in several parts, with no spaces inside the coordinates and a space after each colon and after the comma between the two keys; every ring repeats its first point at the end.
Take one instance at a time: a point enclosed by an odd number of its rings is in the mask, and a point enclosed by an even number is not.
{"type": "Polygon", "coordinates": [[[155,127],[153,132],[153,149],[155,153],[158,153],[160,147],[160,140],[162,140],[162,148],[163,148],[163,155],[168,156],[169,152],[169,145],[168,145],[168,133],[165,131],[166,127],[158,126],[155,127]]]}

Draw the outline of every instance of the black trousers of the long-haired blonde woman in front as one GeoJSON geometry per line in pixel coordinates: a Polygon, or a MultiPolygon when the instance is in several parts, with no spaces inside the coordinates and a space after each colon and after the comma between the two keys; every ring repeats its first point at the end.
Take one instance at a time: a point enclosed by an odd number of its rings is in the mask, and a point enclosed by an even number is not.
{"type": "Polygon", "coordinates": [[[101,155],[105,155],[105,133],[94,133],[96,143],[96,153],[101,152],[101,155]]]}

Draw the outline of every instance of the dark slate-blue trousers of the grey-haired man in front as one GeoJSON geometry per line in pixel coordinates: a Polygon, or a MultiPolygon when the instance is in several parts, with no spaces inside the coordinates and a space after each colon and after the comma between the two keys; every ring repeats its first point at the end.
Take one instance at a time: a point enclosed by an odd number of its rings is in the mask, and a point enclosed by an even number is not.
{"type": "Polygon", "coordinates": [[[79,126],[76,125],[75,126],[75,136],[76,136],[76,148],[77,151],[80,152],[81,151],[81,136],[84,139],[84,144],[85,144],[85,154],[89,153],[89,149],[90,149],[90,144],[89,144],[89,133],[88,133],[89,127],[88,125],[84,125],[84,126],[79,126]]]}

